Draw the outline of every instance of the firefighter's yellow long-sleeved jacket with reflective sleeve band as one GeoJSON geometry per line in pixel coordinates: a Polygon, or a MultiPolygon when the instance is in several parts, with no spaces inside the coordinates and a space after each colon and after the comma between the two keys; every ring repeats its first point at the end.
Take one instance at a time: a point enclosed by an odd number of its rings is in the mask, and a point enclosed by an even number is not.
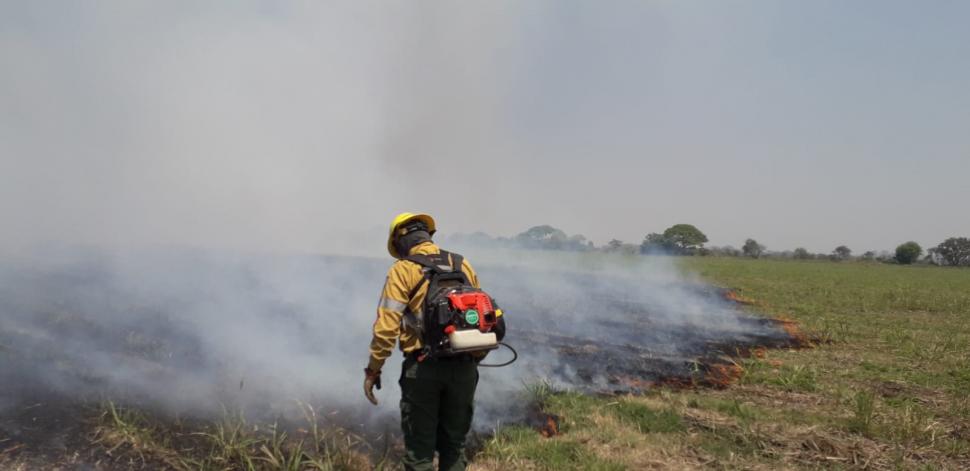
{"type": "MultiPolygon", "coordinates": [[[[425,242],[411,248],[411,255],[438,253],[441,253],[441,249],[433,242],[425,242]]],[[[462,262],[461,270],[465,272],[472,286],[479,288],[478,275],[475,274],[468,260],[462,262]]],[[[398,340],[401,343],[401,351],[405,354],[421,349],[419,335],[402,328],[401,318],[405,310],[409,309],[412,312],[421,310],[424,297],[428,294],[427,283],[415,293],[414,297],[408,299],[408,295],[423,278],[421,266],[407,260],[394,262],[387,272],[387,281],[384,282],[384,290],[381,292],[381,300],[377,306],[377,320],[374,321],[374,338],[370,343],[370,361],[367,367],[371,371],[381,371],[384,361],[391,356],[394,344],[398,340]]]]}

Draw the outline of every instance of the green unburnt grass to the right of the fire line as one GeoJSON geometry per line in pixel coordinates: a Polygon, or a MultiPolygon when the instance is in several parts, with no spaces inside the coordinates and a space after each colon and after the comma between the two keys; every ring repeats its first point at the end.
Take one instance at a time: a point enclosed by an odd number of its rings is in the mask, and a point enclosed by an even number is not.
{"type": "Polygon", "coordinates": [[[685,258],[815,347],[742,360],[723,390],[537,387],[562,433],[500,429],[476,469],[970,469],[970,270],[685,258]]]}

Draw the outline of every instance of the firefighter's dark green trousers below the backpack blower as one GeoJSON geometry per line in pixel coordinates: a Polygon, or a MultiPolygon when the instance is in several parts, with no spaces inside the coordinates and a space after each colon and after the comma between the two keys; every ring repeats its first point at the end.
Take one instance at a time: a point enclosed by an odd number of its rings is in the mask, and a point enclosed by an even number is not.
{"type": "Polygon", "coordinates": [[[431,471],[435,451],[442,471],[465,469],[465,436],[475,412],[478,367],[472,361],[404,361],[401,371],[404,469],[431,471]]]}

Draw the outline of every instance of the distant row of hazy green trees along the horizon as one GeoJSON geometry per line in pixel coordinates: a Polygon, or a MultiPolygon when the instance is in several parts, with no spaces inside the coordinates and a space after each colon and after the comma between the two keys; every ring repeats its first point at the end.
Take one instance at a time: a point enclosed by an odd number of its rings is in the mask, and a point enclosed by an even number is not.
{"type": "Polygon", "coordinates": [[[447,239],[449,243],[476,245],[493,248],[517,248],[529,250],[567,250],[601,251],[629,255],[678,255],[678,256],[719,256],[751,258],[784,258],[794,260],[830,261],[879,261],[909,265],[928,263],[943,266],[970,266],[970,238],[950,237],[939,245],[923,250],[918,243],[908,241],[896,247],[895,252],[866,251],[854,255],[845,245],[835,247],[829,253],[811,253],[804,247],[794,250],[771,251],[755,239],[747,239],[740,249],[732,246],[705,247],[707,235],[692,224],[675,224],[661,233],[649,233],[639,244],[630,244],[612,239],[606,245],[597,247],[583,235],[569,235],[550,225],[534,226],[513,237],[492,237],[484,232],[455,234],[447,239]]]}

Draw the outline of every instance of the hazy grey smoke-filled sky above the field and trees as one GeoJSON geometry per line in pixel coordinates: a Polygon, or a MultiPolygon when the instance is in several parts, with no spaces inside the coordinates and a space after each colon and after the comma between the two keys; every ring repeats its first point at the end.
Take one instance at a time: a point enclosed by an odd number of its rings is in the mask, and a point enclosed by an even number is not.
{"type": "Polygon", "coordinates": [[[0,242],[970,235],[970,3],[0,2],[0,242]],[[376,234],[376,235],[375,235],[376,234]]]}

